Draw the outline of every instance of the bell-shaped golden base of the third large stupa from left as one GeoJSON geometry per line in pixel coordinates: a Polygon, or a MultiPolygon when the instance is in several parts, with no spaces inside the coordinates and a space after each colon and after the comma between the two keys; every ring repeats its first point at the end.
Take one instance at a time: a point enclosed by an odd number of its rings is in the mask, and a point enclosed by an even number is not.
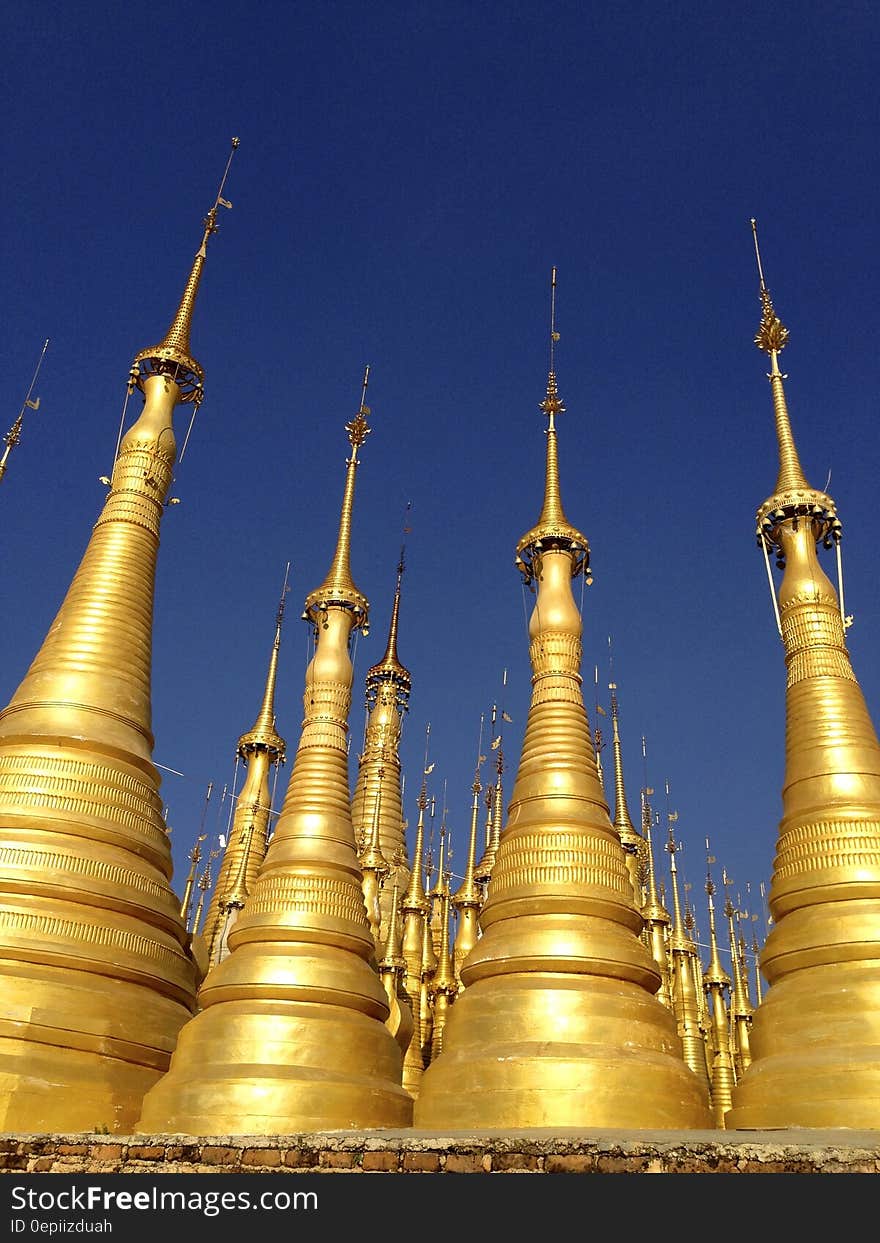
{"type": "Polygon", "coordinates": [[[671,1012],[641,982],[595,973],[604,956],[612,971],[626,963],[631,976],[635,941],[626,929],[583,916],[493,925],[469,958],[444,1052],[423,1076],[415,1126],[711,1129],[708,1101],[682,1060],[671,1012]],[[541,961],[516,956],[523,970],[479,978],[486,942],[506,924],[518,925],[517,941],[531,943],[544,962],[551,945],[572,966],[585,960],[578,943],[583,951],[588,937],[590,973],[546,971],[541,961]]]}

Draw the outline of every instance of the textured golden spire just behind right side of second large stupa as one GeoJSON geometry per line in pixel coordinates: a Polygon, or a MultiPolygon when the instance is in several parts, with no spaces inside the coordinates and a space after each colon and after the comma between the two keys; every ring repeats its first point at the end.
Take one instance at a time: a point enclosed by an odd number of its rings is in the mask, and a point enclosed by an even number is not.
{"type": "MultiPolygon", "coordinates": [[[[408,528],[404,530],[408,531],[408,528]]],[[[404,715],[409,709],[411,680],[409,670],[400,664],[398,658],[404,552],[405,547],[401,547],[385,654],[367,672],[364,750],[363,755],[358,757],[358,776],[352,796],[352,822],[355,839],[363,838],[368,842],[375,828],[378,849],[387,869],[385,883],[378,892],[380,924],[377,936],[379,943],[388,935],[394,884],[404,891],[410,879],[401,803],[400,735],[404,715]],[[383,774],[382,778],[379,773],[383,774]]],[[[363,859],[360,863],[363,866],[363,859]]]]}

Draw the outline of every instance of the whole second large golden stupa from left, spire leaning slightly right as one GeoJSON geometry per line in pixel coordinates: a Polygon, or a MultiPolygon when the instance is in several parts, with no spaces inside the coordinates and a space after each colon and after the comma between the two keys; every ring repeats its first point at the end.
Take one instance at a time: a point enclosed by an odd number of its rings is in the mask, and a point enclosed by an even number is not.
{"type": "Polygon", "coordinates": [[[200,1013],[147,1094],[142,1132],[260,1134],[408,1126],[403,1050],[385,1027],[388,997],[362,890],[348,787],[351,636],[368,602],[349,572],[365,384],[347,424],[339,538],[306,598],[314,634],[305,720],[272,840],[229,957],[205,978],[200,1013]]]}

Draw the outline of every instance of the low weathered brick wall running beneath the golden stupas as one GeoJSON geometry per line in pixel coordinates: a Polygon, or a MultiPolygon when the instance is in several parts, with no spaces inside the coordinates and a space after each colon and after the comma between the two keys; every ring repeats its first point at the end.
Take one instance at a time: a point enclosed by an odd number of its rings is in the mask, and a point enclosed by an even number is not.
{"type": "Polygon", "coordinates": [[[2,1173],[880,1173],[880,1131],[0,1135],[2,1173]]]}

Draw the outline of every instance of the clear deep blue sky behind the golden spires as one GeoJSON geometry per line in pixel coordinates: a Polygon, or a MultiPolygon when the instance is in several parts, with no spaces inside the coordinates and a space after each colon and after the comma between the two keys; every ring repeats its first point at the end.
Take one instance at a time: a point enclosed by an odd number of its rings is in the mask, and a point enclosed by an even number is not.
{"type": "Polygon", "coordinates": [[[594,573],[590,720],[597,664],[608,707],[610,636],[634,819],[648,781],[661,818],[679,813],[700,911],[706,835],[735,890],[757,892],[782,809],[784,666],[753,533],[777,460],[748,221],[791,331],[804,470],[817,487],[832,471],[849,645],[876,716],[876,6],[31,0],[6,5],[4,34],[2,431],[50,348],[0,485],[0,700],[86,546],[128,368],[168,326],[235,134],[234,208],[193,332],[206,395],[157,583],[154,758],[184,774],[162,788],[175,888],[209,782],[208,827],[225,827],[287,561],[277,723],[292,759],[300,613],[332,556],[367,363],[352,566],[372,631],[352,751],[411,501],[405,809],[414,823],[430,722],[460,868],[505,669],[510,796],[532,603],[513,551],[541,507],[556,265],[562,491],[594,573]]]}

